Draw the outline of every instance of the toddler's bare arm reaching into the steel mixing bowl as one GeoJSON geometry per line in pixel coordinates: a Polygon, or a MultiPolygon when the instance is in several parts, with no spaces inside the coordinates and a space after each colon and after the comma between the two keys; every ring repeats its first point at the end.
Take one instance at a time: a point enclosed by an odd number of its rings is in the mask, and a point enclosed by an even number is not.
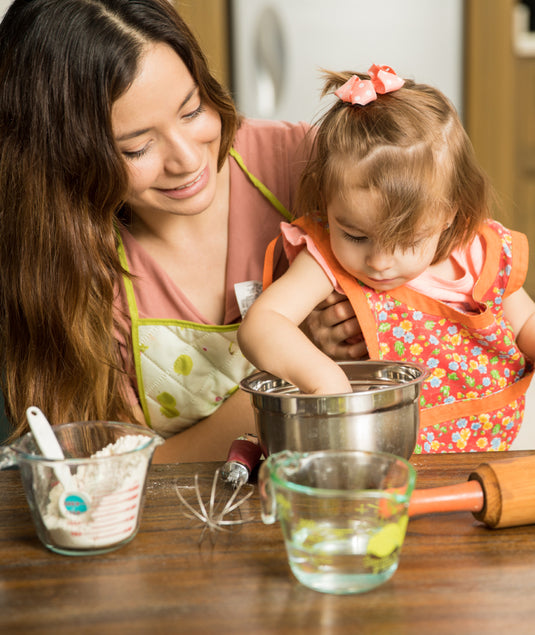
{"type": "Polygon", "coordinates": [[[332,290],[320,265],[306,250],[301,251],[247,311],[238,330],[243,354],[257,368],[295,384],[302,392],[350,392],[343,370],[298,326],[332,290]]]}

